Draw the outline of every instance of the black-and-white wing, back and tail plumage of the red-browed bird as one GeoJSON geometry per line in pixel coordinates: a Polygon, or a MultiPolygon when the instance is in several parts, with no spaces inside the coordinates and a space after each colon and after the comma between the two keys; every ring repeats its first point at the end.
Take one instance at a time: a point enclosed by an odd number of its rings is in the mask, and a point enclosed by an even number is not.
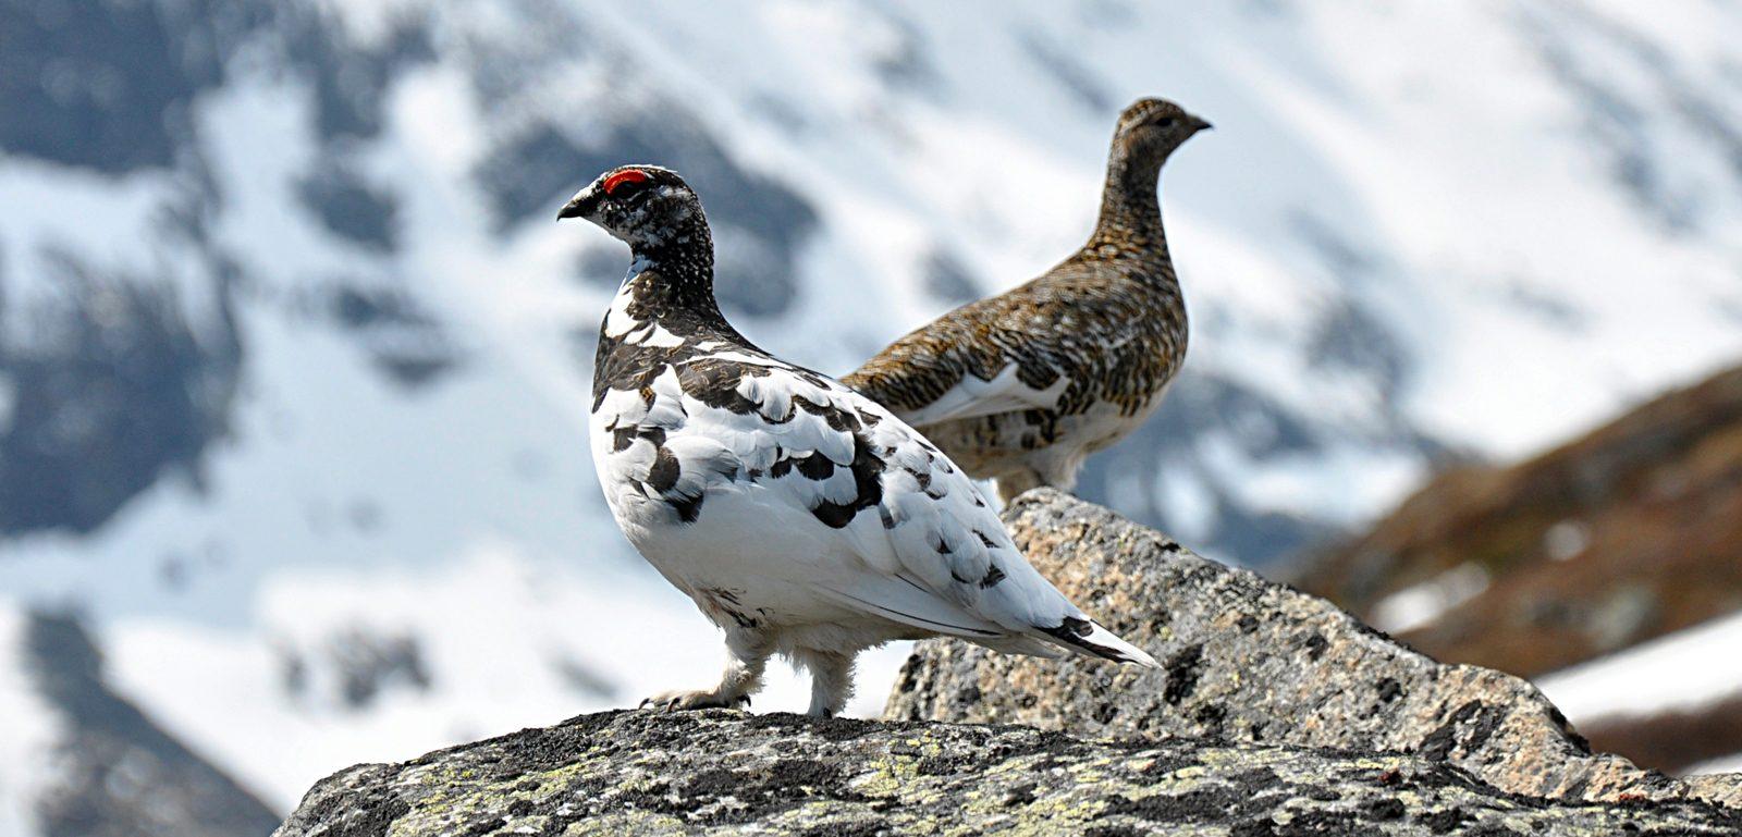
{"type": "Polygon", "coordinates": [[[1005,651],[1155,665],[1042,578],[942,452],[838,381],[704,343],[604,392],[598,412],[613,506],[653,501],[678,526],[753,499],[768,520],[801,522],[780,532],[814,552],[791,559],[810,562],[794,576],[843,607],[1005,651]]]}

